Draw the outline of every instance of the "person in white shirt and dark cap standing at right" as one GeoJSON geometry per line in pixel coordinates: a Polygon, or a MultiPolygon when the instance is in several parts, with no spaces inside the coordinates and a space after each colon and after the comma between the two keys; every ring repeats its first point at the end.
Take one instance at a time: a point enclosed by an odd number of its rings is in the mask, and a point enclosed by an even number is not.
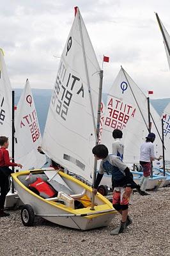
{"type": "Polygon", "coordinates": [[[150,195],[145,191],[146,191],[148,179],[150,178],[150,175],[151,175],[151,162],[154,160],[159,161],[162,158],[161,156],[158,158],[155,157],[154,145],[153,145],[154,141],[155,141],[155,134],[153,132],[150,132],[146,137],[146,141],[144,141],[144,143],[141,145],[139,163],[143,168],[143,177],[139,182],[139,186],[141,186],[140,194],[143,196],[150,195]]]}

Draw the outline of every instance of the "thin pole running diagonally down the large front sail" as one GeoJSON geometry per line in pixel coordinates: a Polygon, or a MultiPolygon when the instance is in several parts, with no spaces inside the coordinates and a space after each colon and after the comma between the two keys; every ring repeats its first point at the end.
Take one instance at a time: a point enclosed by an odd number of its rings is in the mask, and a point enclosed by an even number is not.
{"type": "Polygon", "coordinates": [[[89,101],[90,101],[90,105],[91,105],[91,114],[92,114],[92,118],[93,118],[93,127],[94,127],[94,131],[95,131],[95,138],[96,138],[96,141],[97,141],[95,115],[94,115],[93,103],[92,103],[92,99],[91,99],[91,88],[89,86],[88,65],[87,65],[87,61],[86,61],[86,53],[85,53],[85,49],[84,49],[84,41],[83,41],[83,36],[82,36],[81,13],[79,12],[78,14],[79,14],[78,15],[79,27],[80,27],[80,33],[81,33],[82,54],[83,54],[83,58],[84,58],[84,65],[85,65],[85,70],[86,70],[86,78],[87,78],[87,82],[88,82],[89,101]]]}

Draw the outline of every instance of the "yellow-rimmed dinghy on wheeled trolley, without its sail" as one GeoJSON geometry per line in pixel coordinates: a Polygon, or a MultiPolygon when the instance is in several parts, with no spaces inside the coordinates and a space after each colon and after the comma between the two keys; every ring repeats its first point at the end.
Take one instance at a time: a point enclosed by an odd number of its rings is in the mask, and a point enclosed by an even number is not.
{"type": "Polygon", "coordinates": [[[89,230],[109,225],[116,211],[104,196],[95,196],[95,210],[91,210],[92,189],[70,175],[57,170],[29,170],[12,173],[15,189],[24,207],[21,218],[25,226],[32,226],[35,216],[41,216],[65,227],[89,230]],[[38,178],[47,182],[57,196],[37,195],[30,184],[38,178]],[[69,194],[68,194],[69,193],[69,194]]]}

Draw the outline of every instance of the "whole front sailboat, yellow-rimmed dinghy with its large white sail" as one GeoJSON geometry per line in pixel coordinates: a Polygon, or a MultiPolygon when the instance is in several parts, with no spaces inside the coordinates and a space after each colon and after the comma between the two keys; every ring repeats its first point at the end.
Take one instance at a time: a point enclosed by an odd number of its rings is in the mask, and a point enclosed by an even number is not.
{"type": "MultiPolygon", "coordinates": [[[[89,182],[94,169],[91,150],[97,140],[99,74],[86,26],[79,8],[75,8],[52,92],[42,149],[50,159],[89,182]]],[[[33,170],[13,173],[12,177],[26,204],[21,212],[26,226],[33,225],[36,215],[65,227],[88,230],[109,225],[116,212],[104,196],[94,198],[89,186],[61,170],[33,170]],[[58,196],[42,198],[31,191],[29,185],[37,178],[48,180],[58,196]],[[82,202],[78,209],[75,199],[82,202]]]]}

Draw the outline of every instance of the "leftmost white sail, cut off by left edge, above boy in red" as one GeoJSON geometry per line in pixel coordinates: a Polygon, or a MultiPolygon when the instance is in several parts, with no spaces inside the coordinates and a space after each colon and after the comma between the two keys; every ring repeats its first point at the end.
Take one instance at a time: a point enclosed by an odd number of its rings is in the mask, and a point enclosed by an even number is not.
{"type": "Polygon", "coordinates": [[[6,65],[3,50],[0,49],[0,136],[9,138],[9,151],[12,148],[12,87],[6,65]]]}

